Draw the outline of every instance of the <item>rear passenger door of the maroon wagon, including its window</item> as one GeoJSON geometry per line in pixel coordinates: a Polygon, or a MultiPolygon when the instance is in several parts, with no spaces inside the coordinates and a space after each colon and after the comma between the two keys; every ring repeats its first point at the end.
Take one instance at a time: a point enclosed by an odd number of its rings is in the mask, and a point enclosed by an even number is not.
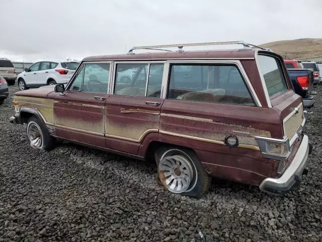
{"type": "Polygon", "coordinates": [[[158,133],[163,63],[116,63],[115,82],[106,102],[106,146],[137,154],[146,135],[158,133]]]}

